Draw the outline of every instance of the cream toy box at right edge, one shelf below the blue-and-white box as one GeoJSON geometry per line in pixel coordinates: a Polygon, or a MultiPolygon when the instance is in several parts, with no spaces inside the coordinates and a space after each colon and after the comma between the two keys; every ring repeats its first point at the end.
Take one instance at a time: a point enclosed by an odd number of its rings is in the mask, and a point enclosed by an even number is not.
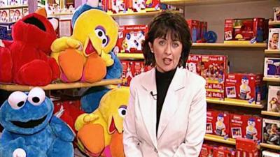
{"type": "Polygon", "coordinates": [[[269,86],[267,111],[280,113],[280,86],[269,86]]]}

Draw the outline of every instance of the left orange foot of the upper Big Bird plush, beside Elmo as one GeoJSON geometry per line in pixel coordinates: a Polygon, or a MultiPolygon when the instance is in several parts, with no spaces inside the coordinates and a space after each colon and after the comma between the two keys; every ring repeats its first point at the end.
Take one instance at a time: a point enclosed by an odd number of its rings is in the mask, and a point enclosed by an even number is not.
{"type": "Polygon", "coordinates": [[[59,54],[58,61],[64,82],[76,82],[80,80],[83,75],[84,64],[84,59],[81,54],[74,49],[67,49],[59,54]]]}

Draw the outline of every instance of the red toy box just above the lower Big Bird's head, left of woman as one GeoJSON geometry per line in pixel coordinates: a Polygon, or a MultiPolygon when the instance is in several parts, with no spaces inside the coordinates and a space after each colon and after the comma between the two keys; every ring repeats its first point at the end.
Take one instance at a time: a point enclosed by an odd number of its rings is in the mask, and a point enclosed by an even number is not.
{"type": "Polygon", "coordinates": [[[122,78],[125,80],[123,85],[130,86],[130,81],[134,77],[134,61],[121,61],[123,65],[122,78]]]}

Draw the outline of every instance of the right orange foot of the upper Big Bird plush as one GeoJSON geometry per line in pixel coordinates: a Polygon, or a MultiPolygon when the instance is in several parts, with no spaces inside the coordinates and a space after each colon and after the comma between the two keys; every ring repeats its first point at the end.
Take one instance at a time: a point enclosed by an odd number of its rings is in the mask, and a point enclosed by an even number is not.
{"type": "Polygon", "coordinates": [[[106,63],[98,54],[87,57],[82,80],[85,82],[98,82],[106,75],[106,63]]]}

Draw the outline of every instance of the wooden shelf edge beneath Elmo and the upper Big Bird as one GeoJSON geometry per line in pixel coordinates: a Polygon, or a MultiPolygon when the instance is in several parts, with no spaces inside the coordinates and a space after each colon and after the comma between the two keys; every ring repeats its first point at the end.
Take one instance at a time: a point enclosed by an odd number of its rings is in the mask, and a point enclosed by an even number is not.
{"type": "MultiPolygon", "coordinates": [[[[44,90],[55,90],[55,89],[74,89],[82,87],[95,87],[95,86],[104,86],[108,84],[121,84],[123,80],[121,79],[108,79],[102,80],[100,82],[94,83],[85,83],[85,82],[73,82],[73,83],[57,83],[57,84],[48,84],[47,86],[41,87],[44,90]]],[[[6,91],[30,91],[32,86],[23,86],[18,84],[0,84],[0,89],[6,91]]]]}

